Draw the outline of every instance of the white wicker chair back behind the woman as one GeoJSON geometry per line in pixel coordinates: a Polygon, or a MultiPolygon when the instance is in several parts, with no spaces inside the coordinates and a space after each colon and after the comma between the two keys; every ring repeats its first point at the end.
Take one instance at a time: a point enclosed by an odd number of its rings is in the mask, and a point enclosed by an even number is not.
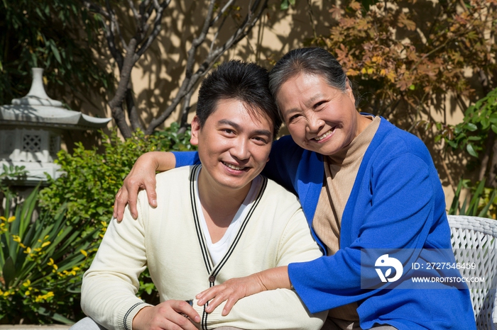
{"type": "Polygon", "coordinates": [[[458,263],[476,263],[476,268],[461,269],[464,277],[484,277],[471,283],[470,294],[479,330],[497,329],[497,220],[464,215],[449,215],[451,241],[458,263]]]}

